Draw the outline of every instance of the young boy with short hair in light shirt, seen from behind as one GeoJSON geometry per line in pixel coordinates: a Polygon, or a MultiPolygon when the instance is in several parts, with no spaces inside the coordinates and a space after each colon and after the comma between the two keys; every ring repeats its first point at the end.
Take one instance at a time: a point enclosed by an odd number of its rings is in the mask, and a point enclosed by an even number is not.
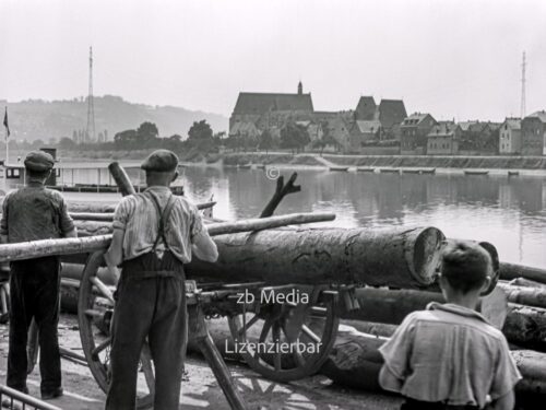
{"type": "Polygon", "coordinates": [[[406,398],[403,410],[513,409],[520,372],[505,336],[475,312],[490,271],[479,245],[449,242],[440,277],[447,303],[408,315],[380,348],[379,383],[406,398]]]}

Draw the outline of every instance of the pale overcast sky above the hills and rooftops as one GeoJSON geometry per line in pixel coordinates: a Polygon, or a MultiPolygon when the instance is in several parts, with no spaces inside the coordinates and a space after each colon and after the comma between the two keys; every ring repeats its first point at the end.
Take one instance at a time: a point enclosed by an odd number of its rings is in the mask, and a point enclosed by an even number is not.
{"type": "Polygon", "coordinates": [[[0,0],[0,99],[95,95],[228,116],[239,91],[316,109],[404,98],[437,119],[546,109],[546,1],[0,0]]]}

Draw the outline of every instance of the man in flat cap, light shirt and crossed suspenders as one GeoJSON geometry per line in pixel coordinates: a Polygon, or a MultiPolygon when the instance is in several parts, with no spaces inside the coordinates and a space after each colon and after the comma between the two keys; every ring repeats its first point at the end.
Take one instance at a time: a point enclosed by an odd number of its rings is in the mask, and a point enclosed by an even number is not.
{"type": "Polygon", "coordinates": [[[110,270],[121,265],[116,291],[106,409],[134,409],[140,354],[147,338],[155,367],[154,409],[178,409],[188,321],[183,265],[192,253],[215,261],[216,245],[195,206],[174,196],[178,157],[153,152],[142,164],[147,189],[124,197],[114,216],[105,255],[110,270]]]}

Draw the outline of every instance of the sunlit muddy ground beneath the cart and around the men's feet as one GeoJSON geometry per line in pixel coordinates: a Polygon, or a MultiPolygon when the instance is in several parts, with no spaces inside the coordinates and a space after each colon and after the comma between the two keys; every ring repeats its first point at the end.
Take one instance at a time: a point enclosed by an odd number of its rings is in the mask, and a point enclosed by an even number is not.
{"type": "MultiPolygon", "coordinates": [[[[78,321],[74,316],[63,315],[59,324],[60,344],[83,354],[78,321]]],[[[0,325],[0,383],[5,383],[8,358],[8,326],[0,325]]],[[[271,410],[390,410],[399,409],[401,399],[384,395],[371,395],[334,386],[323,376],[309,377],[290,384],[280,384],[260,377],[239,365],[228,366],[237,386],[248,402],[248,409],[271,410]]],[[[206,363],[190,356],[187,363],[188,380],[182,382],[180,409],[229,409],[214,375],[206,363]]],[[[90,370],[69,360],[62,360],[64,396],[51,400],[66,410],[103,409],[105,395],[98,388],[90,370]]],[[[39,397],[38,366],[28,378],[31,395],[39,397]]]]}

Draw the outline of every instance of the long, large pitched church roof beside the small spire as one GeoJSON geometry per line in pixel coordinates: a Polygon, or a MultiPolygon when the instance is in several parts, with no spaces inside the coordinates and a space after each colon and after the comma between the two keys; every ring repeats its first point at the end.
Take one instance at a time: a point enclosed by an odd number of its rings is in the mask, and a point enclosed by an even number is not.
{"type": "Polygon", "coordinates": [[[311,94],[239,93],[234,114],[312,112],[311,94]]]}

